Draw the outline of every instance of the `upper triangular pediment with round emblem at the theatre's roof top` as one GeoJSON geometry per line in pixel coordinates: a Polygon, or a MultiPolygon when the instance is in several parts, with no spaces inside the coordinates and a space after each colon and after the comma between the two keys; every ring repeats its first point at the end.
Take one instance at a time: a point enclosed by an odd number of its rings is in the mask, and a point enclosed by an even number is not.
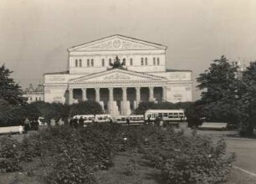
{"type": "Polygon", "coordinates": [[[114,35],[84,43],[68,49],[70,51],[102,51],[102,50],[152,50],[166,49],[166,46],[150,43],[136,38],[114,35]]]}

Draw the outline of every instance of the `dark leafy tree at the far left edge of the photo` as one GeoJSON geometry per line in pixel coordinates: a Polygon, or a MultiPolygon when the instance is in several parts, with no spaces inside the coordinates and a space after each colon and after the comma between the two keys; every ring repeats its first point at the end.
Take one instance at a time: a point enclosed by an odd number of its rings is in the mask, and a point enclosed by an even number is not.
{"type": "Polygon", "coordinates": [[[13,71],[6,69],[4,64],[0,67],[0,97],[8,105],[23,105],[25,99],[21,96],[22,89],[10,78],[12,73],[13,71]]]}

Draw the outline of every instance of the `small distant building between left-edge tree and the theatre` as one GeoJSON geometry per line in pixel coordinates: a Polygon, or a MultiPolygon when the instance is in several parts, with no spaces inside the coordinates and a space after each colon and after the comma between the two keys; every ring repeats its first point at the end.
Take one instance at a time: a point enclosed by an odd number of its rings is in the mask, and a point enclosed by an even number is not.
{"type": "Polygon", "coordinates": [[[38,84],[38,87],[34,89],[33,84],[29,84],[29,87],[23,91],[23,97],[28,99],[28,104],[34,101],[44,101],[44,85],[38,84]]]}

